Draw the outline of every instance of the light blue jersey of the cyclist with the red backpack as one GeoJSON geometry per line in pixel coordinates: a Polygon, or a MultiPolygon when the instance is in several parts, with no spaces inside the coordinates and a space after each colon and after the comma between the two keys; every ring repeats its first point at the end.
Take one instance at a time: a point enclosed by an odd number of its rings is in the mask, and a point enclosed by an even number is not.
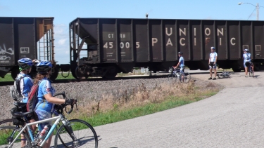
{"type": "Polygon", "coordinates": [[[39,89],[37,94],[37,110],[42,110],[46,112],[53,112],[54,104],[46,101],[44,95],[51,93],[52,96],[55,95],[56,91],[54,87],[51,86],[51,81],[49,79],[42,79],[39,83],[39,89]]]}

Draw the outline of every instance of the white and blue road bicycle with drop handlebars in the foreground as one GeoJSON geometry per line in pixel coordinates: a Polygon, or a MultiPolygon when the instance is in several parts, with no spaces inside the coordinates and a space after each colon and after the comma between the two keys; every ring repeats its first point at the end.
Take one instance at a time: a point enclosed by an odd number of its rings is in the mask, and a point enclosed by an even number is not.
{"type": "MultiPolygon", "coordinates": [[[[63,98],[67,98],[65,93],[60,93],[57,95],[62,95],[63,98]]],[[[55,135],[54,147],[98,147],[98,139],[94,128],[87,123],[86,121],[82,121],[79,119],[68,120],[65,118],[63,114],[63,109],[66,110],[67,105],[56,105],[54,109],[58,113],[58,116],[52,117],[51,119],[45,119],[42,121],[36,121],[33,123],[26,123],[23,128],[17,128],[14,126],[3,126],[0,127],[0,147],[20,147],[20,141],[25,140],[27,147],[42,147],[46,140],[49,139],[51,133],[54,132],[57,124],[62,121],[63,125],[58,128],[55,135]],[[55,121],[53,126],[51,126],[46,137],[43,140],[39,138],[39,133],[33,135],[30,126],[35,125],[37,123],[45,123],[48,121],[55,121]],[[27,129],[27,130],[26,130],[27,129]],[[84,130],[88,130],[88,132],[84,136],[84,130]],[[27,132],[24,132],[27,131],[27,132]],[[81,133],[81,137],[77,137],[81,133]],[[90,135],[89,135],[90,134],[90,135]],[[25,139],[19,139],[20,135],[24,135],[25,139]],[[68,138],[68,139],[67,139],[68,138]],[[58,140],[60,139],[60,140],[58,140]],[[4,144],[4,145],[3,145],[4,144]],[[85,145],[84,145],[85,144],[85,145]]],[[[70,114],[73,111],[73,105],[70,105],[70,111],[67,114],[70,114]]],[[[76,105],[77,109],[77,105],[76,105]]],[[[33,114],[33,112],[17,112],[15,113],[16,117],[23,117],[29,114],[33,114]]]]}

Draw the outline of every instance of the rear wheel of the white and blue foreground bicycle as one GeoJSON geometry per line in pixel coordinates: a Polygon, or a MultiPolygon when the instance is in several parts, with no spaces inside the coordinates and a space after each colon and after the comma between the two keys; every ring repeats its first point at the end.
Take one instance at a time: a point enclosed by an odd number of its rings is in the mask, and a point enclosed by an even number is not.
{"type": "MultiPolygon", "coordinates": [[[[13,142],[15,137],[20,133],[20,129],[15,128],[14,126],[2,126],[0,128],[0,148],[6,148],[13,142]]],[[[30,138],[27,136],[26,133],[22,133],[24,138],[21,139],[19,136],[17,140],[13,143],[12,147],[21,147],[21,141],[25,140],[26,147],[31,147],[30,138]]]]}

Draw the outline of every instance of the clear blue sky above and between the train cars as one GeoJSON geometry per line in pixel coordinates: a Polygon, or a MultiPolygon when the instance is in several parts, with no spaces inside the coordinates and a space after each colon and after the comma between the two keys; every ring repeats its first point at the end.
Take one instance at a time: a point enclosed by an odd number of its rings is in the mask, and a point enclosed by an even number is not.
{"type": "Polygon", "coordinates": [[[256,4],[264,20],[260,0],[0,0],[0,16],[54,17],[55,59],[68,64],[68,27],[75,18],[146,18],[149,13],[149,19],[256,20],[256,4]]]}

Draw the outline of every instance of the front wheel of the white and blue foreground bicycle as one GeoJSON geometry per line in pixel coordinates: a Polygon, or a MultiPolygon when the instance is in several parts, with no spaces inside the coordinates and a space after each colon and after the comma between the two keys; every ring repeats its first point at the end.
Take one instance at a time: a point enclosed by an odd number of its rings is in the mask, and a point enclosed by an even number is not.
{"type": "Polygon", "coordinates": [[[76,137],[76,141],[70,137],[65,126],[61,126],[56,133],[54,146],[56,148],[61,147],[98,147],[97,135],[94,128],[87,123],[79,119],[70,120],[70,128],[73,129],[73,134],[76,137]],[[59,137],[60,135],[60,137],[59,137]],[[63,140],[63,143],[61,143],[63,140]]]}

